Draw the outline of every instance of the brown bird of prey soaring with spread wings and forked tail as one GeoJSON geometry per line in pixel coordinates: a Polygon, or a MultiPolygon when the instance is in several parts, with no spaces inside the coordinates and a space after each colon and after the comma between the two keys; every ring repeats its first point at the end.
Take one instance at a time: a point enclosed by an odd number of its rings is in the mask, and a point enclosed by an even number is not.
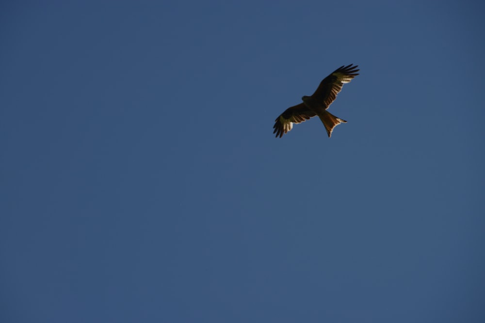
{"type": "Polygon", "coordinates": [[[342,86],[349,83],[356,77],[359,70],[357,65],[353,64],[347,66],[340,66],[332,74],[325,77],[318,89],[311,96],[304,95],[302,97],[303,103],[297,104],[291,108],[287,108],[285,112],[276,118],[276,123],[273,126],[276,138],[281,138],[283,134],[293,128],[293,123],[302,123],[314,116],[318,116],[322,120],[323,125],[328,134],[328,138],[332,135],[332,130],[340,123],[346,123],[345,120],[337,118],[327,111],[328,107],[337,98],[342,86]]]}

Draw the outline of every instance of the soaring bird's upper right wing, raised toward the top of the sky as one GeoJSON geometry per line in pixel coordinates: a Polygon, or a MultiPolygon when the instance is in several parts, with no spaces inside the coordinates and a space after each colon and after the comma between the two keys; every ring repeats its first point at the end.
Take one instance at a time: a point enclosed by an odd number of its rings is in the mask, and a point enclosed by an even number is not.
{"type": "Polygon", "coordinates": [[[340,66],[332,74],[325,77],[317,91],[312,94],[312,97],[318,102],[323,102],[325,109],[327,109],[332,102],[337,98],[337,94],[342,90],[342,86],[345,83],[349,83],[354,77],[356,77],[359,70],[357,65],[353,64],[347,66],[340,66]]]}

